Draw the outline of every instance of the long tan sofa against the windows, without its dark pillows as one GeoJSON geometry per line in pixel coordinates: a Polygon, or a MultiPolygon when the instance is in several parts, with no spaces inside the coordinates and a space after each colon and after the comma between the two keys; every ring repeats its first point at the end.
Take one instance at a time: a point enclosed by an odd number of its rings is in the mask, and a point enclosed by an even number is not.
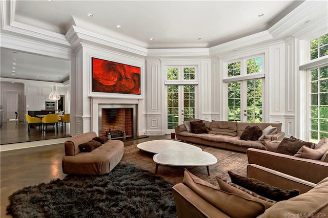
{"type": "MultiPolygon", "coordinates": [[[[196,121],[199,120],[196,119],[196,121]]],[[[246,150],[251,147],[265,150],[265,146],[263,145],[262,141],[246,141],[240,139],[240,135],[248,125],[256,125],[262,130],[270,125],[277,128],[274,134],[266,135],[263,137],[263,139],[281,141],[285,135],[284,132],[281,132],[281,123],[243,123],[228,121],[210,122],[205,120],[202,120],[202,122],[205,123],[209,133],[191,133],[187,131],[185,124],[181,124],[175,127],[176,139],[191,143],[246,152],[246,150]]]]}

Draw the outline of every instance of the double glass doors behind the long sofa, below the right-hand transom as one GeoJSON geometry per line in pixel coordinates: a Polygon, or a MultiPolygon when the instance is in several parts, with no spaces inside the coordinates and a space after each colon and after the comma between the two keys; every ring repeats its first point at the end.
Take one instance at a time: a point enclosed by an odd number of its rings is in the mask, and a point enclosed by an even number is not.
{"type": "Polygon", "coordinates": [[[262,79],[228,83],[228,120],[262,122],[262,79]]]}

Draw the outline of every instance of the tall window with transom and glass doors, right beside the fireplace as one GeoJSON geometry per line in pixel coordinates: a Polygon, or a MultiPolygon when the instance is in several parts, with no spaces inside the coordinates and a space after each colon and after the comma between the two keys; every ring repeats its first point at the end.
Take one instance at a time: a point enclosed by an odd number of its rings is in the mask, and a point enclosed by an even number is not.
{"type": "Polygon", "coordinates": [[[194,66],[178,66],[167,68],[167,130],[195,117],[197,68],[194,66]]]}

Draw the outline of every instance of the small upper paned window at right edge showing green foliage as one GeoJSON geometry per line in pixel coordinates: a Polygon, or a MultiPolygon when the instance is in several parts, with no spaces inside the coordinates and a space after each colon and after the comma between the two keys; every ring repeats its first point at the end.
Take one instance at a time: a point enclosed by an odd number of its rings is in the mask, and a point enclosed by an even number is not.
{"type": "Polygon", "coordinates": [[[328,34],[313,39],[310,46],[311,60],[328,55],[328,34]]]}

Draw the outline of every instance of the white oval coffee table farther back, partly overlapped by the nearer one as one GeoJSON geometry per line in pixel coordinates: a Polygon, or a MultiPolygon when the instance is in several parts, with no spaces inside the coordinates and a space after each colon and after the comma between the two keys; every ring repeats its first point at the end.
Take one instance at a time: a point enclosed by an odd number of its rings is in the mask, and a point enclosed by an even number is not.
{"type": "Polygon", "coordinates": [[[163,152],[201,150],[200,147],[187,144],[184,142],[179,142],[176,140],[169,140],[169,139],[159,139],[159,140],[142,142],[140,144],[137,144],[137,147],[140,150],[148,151],[154,154],[163,153],[163,152]]]}

